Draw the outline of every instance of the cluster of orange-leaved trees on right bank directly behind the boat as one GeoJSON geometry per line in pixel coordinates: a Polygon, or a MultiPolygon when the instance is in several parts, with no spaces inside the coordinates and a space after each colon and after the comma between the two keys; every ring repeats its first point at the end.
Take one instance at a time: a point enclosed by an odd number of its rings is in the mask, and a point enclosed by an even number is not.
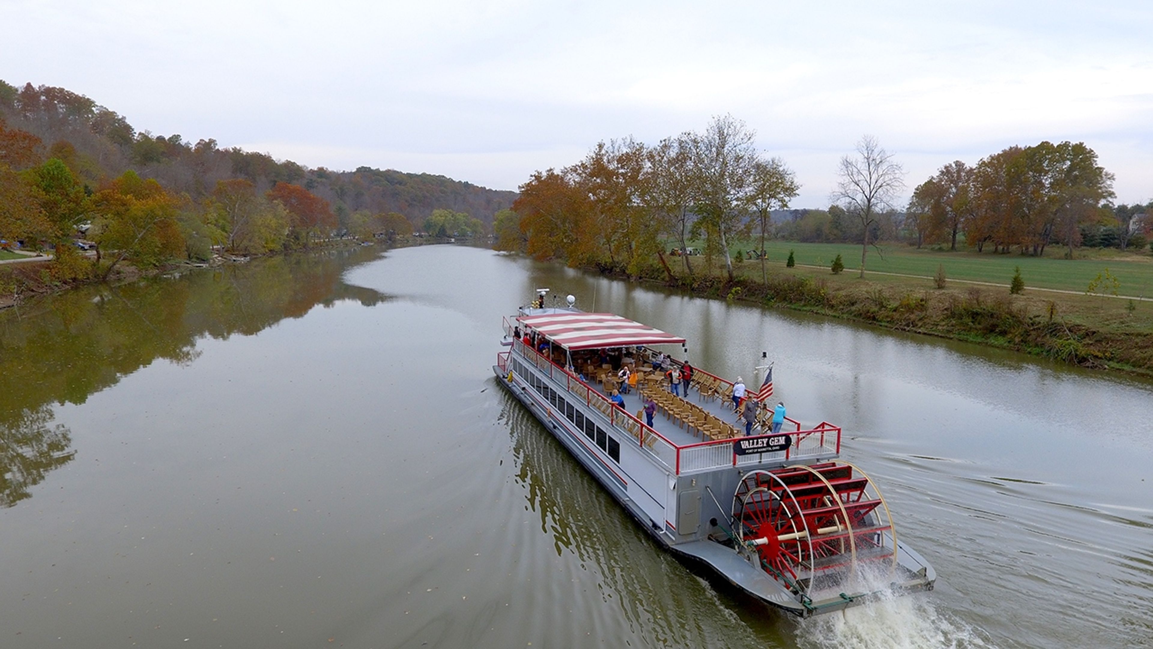
{"type": "MultiPolygon", "coordinates": [[[[685,251],[703,239],[707,260],[721,255],[731,279],[730,245],[756,226],[763,238],[771,210],[786,208],[800,189],[754,139],[744,121],[724,115],[655,146],[601,142],[571,166],[533,173],[512,209],[497,212],[496,247],[634,276],[660,263],[671,278],[665,240],[685,251]]],[[[692,276],[692,255],[679,260],[692,276]]]]}

